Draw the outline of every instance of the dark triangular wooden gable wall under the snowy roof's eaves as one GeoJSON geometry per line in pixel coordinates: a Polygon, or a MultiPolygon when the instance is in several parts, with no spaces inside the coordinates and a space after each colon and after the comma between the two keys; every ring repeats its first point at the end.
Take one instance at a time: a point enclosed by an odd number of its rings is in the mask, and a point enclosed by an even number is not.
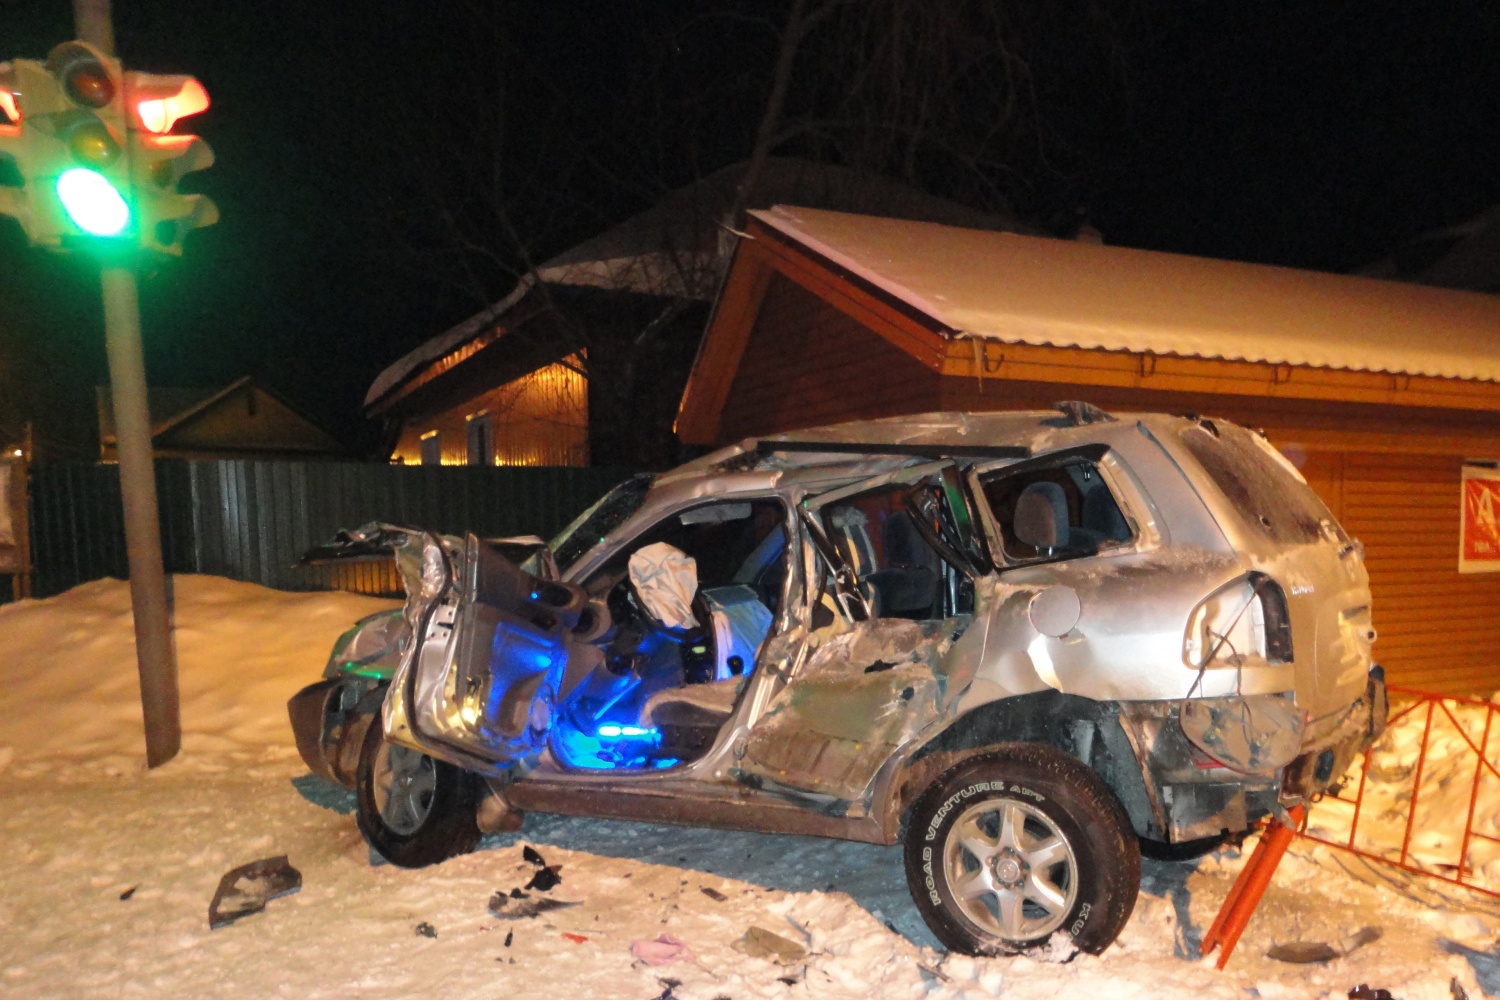
{"type": "Polygon", "coordinates": [[[939,408],[940,376],[782,274],[729,388],[720,439],[939,408]]]}

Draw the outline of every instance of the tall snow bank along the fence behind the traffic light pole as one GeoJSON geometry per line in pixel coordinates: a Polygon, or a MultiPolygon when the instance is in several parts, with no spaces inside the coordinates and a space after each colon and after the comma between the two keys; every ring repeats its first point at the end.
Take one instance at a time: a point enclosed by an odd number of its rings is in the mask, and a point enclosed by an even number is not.
{"type": "MultiPolygon", "coordinates": [[[[339,633],[392,606],[172,577],[183,748],[290,747],[286,699],[318,679],[339,633]]],[[[56,756],[124,766],[146,756],[126,583],[0,604],[0,768],[56,756]]]]}

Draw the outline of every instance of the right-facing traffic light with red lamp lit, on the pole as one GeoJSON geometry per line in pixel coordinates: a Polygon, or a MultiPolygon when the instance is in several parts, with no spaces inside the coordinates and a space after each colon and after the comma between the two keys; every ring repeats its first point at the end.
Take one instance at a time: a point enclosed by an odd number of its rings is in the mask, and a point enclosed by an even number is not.
{"type": "Polygon", "coordinates": [[[136,72],[124,75],[124,90],[140,243],[180,255],[190,229],[219,220],[206,196],[177,190],[183,177],[213,166],[213,150],[196,135],[171,135],[178,120],[208,108],[208,91],[192,76],[136,72]]]}

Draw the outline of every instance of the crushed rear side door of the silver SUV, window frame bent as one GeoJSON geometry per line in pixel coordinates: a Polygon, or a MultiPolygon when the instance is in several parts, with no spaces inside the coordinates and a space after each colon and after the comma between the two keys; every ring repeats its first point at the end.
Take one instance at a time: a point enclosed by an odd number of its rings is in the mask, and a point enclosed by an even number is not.
{"type": "Polygon", "coordinates": [[[736,777],[858,808],[974,676],[982,642],[964,636],[982,546],[951,462],[810,498],[802,514],[837,613],[752,727],[736,777]]]}

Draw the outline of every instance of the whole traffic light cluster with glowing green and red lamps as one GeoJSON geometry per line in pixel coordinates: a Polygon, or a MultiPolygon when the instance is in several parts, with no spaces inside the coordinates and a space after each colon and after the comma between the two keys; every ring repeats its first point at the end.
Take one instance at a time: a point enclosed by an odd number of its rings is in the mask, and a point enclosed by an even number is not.
{"type": "Polygon", "coordinates": [[[219,219],[212,201],[177,190],[213,151],[172,126],[207,106],[192,76],[128,73],[82,42],[0,63],[0,214],[50,249],[180,255],[188,231],[219,219]]]}

